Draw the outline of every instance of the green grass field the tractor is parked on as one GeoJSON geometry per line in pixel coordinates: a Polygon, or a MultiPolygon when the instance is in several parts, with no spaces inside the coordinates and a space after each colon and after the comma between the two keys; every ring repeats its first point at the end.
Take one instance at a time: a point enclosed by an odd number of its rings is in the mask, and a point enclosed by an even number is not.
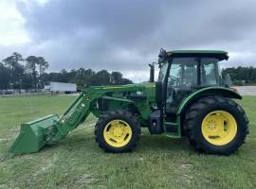
{"type": "Polygon", "coordinates": [[[198,154],[186,139],[151,136],[146,129],[134,152],[104,153],[94,140],[93,116],[39,153],[7,154],[21,123],[61,113],[73,99],[0,97],[0,188],[256,188],[256,96],[239,101],[250,134],[229,157],[198,154]]]}

